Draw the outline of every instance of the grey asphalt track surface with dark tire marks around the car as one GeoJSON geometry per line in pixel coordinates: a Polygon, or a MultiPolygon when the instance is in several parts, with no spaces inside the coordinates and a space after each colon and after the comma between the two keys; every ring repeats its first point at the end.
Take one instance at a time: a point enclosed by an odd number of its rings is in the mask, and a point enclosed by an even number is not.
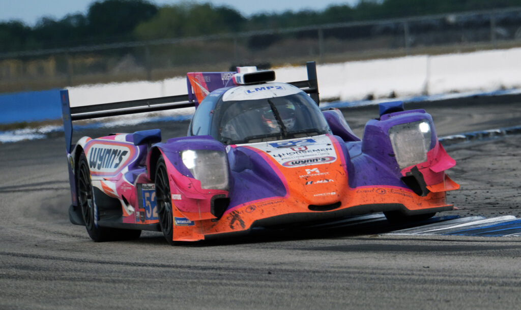
{"type": "MultiPolygon", "coordinates": [[[[519,125],[519,98],[421,104],[439,136],[519,125]],[[494,101],[494,100],[492,100],[494,101]]],[[[410,109],[413,106],[408,105],[410,109]]],[[[377,108],[344,111],[358,135],[377,108]]],[[[166,124],[157,124],[164,126],[166,124]]],[[[163,128],[181,136],[187,123],[163,128]]],[[[132,132],[156,127],[121,128],[132,132]]],[[[95,132],[102,134],[102,132],[95,132]]],[[[0,308],[519,308],[521,238],[402,236],[390,225],[258,231],[170,247],[92,242],[69,223],[65,144],[0,145],[0,308]]],[[[458,144],[443,215],[521,217],[521,135],[458,144]]]]}

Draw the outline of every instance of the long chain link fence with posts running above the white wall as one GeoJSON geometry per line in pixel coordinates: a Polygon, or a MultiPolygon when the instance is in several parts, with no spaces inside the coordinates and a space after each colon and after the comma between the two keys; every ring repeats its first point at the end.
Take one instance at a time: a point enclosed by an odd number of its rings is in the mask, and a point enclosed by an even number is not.
{"type": "Polygon", "coordinates": [[[521,8],[0,54],[0,92],[521,46],[521,8]]]}

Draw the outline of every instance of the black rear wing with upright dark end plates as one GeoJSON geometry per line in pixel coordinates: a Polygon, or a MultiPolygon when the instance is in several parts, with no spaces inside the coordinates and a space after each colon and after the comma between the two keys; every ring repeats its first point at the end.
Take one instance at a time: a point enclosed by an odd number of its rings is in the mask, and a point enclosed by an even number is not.
{"type": "MultiPolygon", "coordinates": [[[[307,80],[290,82],[288,84],[302,89],[302,91],[309,94],[318,105],[320,99],[318,95],[318,80],[315,61],[308,61],[306,63],[306,68],[307,80]]],[[[188,83],[188,87],[191,87],[190,83],[188,83]]],[[[189,94],[192,94],[192,89],[190,88],[189,94]]],[[[189,94],[71,107],[69,91],[64,89],[60,91],[60,98],[67,153],[70,153],[72,149],[72,121],[196,107],[196,102],[194,101],[193,96],[189,96],[189,94]]]]}

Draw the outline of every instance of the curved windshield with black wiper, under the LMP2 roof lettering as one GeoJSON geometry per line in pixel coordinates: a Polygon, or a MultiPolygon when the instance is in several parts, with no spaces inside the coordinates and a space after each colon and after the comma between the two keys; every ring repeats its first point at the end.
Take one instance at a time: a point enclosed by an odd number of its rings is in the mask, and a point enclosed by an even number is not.
{"type": "Polygon", "coordinates": [[[324,115],[313,99],[304,93],[221,101],[219,104],[214,116],[216,138],[224,144],[291,139],[330,132],[324,115]]]}

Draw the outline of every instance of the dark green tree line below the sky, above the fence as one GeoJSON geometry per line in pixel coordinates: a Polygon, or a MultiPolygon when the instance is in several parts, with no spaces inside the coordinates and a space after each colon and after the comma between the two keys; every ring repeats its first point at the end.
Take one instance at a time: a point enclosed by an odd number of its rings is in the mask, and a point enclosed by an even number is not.
{"type": "Polygon", "coordinates": [[[361,0],[354,6],[246,18],[231,7],[209,3],[157,6],[146,0],[98,0],[85,15],[69,14],[58,20],[42,17],[34,27],[18,20],[0,22],[0,53],[514,6],[521,6],[521,0],[361,0]]]}

